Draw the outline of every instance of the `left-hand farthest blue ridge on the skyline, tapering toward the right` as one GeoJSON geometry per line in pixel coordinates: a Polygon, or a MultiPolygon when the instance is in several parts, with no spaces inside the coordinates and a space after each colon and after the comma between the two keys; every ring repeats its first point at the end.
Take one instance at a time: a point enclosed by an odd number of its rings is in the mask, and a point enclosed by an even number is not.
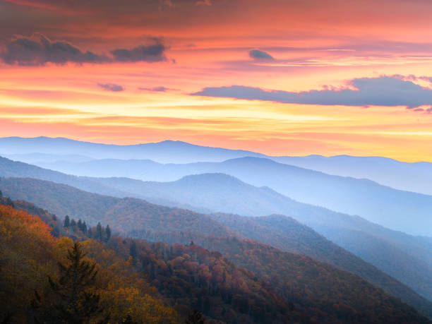
{"type": "Polygon", "coordinates": [[[84,155],[95,159],[120,157],[125,160],[150,159],[157,162],[176,163],[190,163],[196,161],[220,162],[234,157],[265,156],[250,151],[209,148],[174,140],[137,145],[112,145],[43,136],[37,138],[0,138],[1,155],[17,155],[35,152],[49,155],[84,155]]]}

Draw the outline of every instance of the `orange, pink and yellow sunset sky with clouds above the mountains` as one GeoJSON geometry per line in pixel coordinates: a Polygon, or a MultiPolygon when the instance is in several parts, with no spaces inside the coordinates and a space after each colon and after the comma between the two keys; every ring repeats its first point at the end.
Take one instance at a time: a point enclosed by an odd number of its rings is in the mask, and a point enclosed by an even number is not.
{"type": "Polygon", "coordinates": [[[432,1],[0,0],[0,137],[432,162],[432,1]]]}

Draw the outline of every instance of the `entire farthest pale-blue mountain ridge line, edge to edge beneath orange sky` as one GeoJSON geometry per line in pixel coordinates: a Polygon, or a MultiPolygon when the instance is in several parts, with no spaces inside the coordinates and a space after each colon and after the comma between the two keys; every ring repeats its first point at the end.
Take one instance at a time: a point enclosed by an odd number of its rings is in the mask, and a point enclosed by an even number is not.
{"type": "MultiPolygon", "coordinates": [[[[305,157],[270,156],[247,150],[230,150],[193,145],[186,142],[165,140],[159,143],[137,145],[107,145],[100,143],[80,142],[68,138],[0,138],[0,155],[37,164],[48,169],[66,172],[59,169],[55,162],[88,162],[86,160],[121,159],[153,160],[161,163],[222,162],[237,157],[265,157],[276,162],[303,167],[337,176],[352,176],[356,179],[371,179],[404,191],[413,191],[432,195],[432,163],[400,162],[386,157],[357,157],[337,155],[323,157],[308,155],[305,157]],[[35,153],[43,153],[35,156],[35,153]],[[55,155],[59,155],[55,157],[55,155]],[[78,155],[78,156],[77,156],[78,155]],[[51,163],[51,165],[47,164],[51,163]]],[[[60,165],[61,167],[61,165],[60,165]]],[[[85,165],[78,167],[85,171],[85,165]]],[[[87,167],[91,167],[91,164],[87,167]]],[[[97,168],[96,168],[97,169],[97,168]]],[[[73,173],[76,174],[76,173],[73,173]]],[[[112,176],[107,174],[80,174],[88,176],[112,176]]],[[[131,176],[123,174],[121,176],[131,176]]],[[[178,178],[177,178],[178,179],[178,178]]],[[[151,180],[151,179],[150,179],[151,180]]],[[[153,179],[172,181],[176,179],[153,179]]]]}

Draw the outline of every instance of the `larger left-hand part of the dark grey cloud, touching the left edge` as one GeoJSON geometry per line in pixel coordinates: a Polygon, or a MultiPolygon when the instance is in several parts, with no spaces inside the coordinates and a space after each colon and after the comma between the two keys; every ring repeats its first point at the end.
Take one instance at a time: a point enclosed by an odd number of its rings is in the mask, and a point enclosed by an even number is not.
{"type": "Polygon", "coordinates": [[[78,47],[64,40],[49,40],[48,37],[35,33],[30,37],[16,36],[6,45],[6,50],[0,53],[0,58],[6,64],[23,66],[55,64],[102,63],[109,61],[106,56],[93,52],[83,52],[78,47]]]}

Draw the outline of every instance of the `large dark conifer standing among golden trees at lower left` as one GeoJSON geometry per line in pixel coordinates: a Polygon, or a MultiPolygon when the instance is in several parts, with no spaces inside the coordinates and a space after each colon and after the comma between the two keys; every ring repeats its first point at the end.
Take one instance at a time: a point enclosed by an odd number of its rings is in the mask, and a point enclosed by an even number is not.
{"type": "Polygon", "coordinates": [[[68,265],[59,263],[59,280],[49,277],[49,286],[58,296],[50,316],[59,323],[87,323],[103,311],[99,294],[89,291],[95,283],[96,264],[85,260],[85,256],[80,244],[75,242],[68,250],[68,265]]]}

